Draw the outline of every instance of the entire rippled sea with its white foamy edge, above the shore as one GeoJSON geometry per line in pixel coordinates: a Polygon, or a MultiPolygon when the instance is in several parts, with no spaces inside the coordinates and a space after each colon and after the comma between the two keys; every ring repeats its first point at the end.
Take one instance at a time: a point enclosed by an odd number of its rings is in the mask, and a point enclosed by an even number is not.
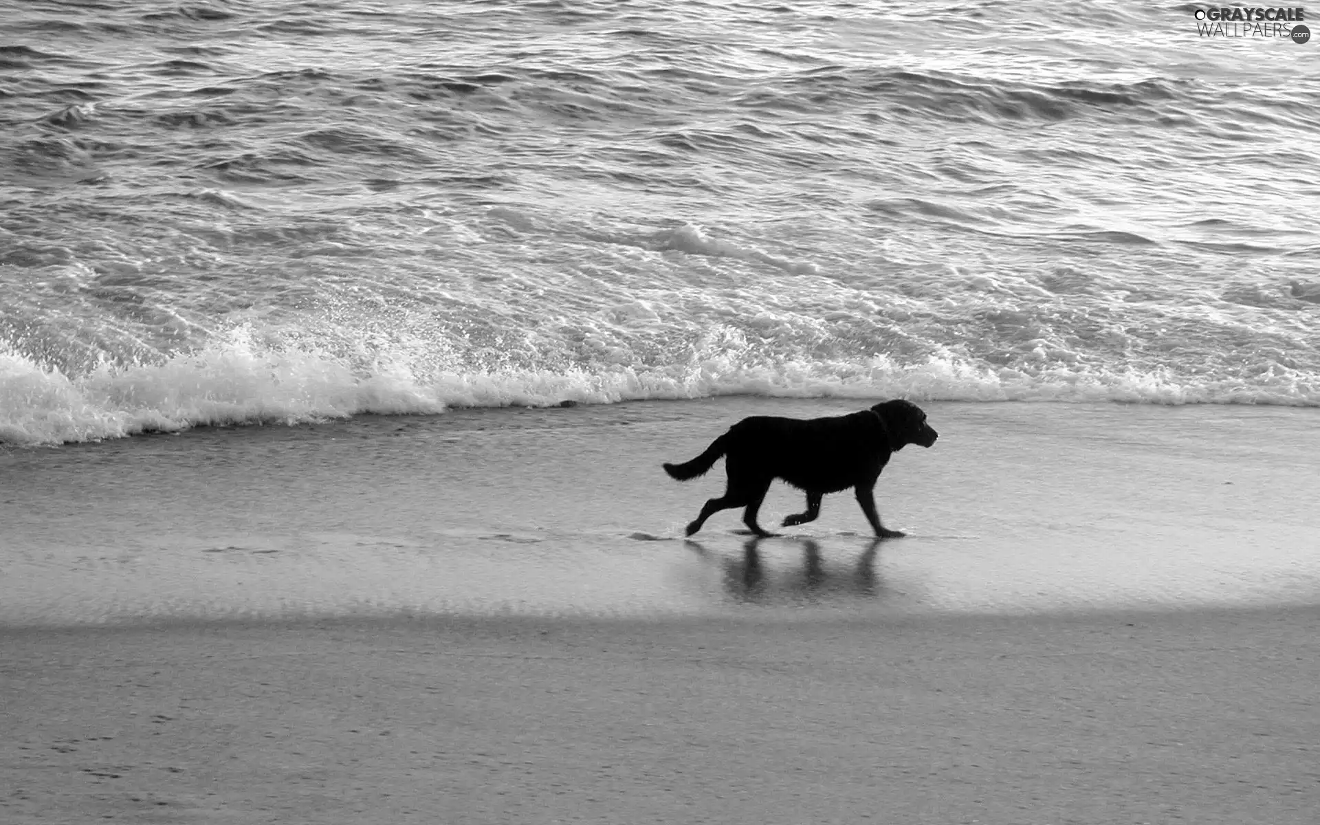
{"type": "Polygon", "coordinates": [[[1320,404],[1320,46],[1193,8],[0,3],[0,441],[1320,404]]]}

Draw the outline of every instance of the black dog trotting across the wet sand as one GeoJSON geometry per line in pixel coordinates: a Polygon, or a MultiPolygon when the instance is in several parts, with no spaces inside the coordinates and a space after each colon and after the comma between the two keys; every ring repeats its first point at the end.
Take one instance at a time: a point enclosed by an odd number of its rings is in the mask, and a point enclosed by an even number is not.
{"type": "Polygon", "coordinates": [[[857,488],[857,503],[875,535],[896,539],[903,533],[880,524],[875,512],[875,479],[890,455],[904,445],[935,444],[940,434],[925,422],[925,413],[911,401],[884,401],[849,416],[829,418],[781,418],[752,416],[729,428],[706,451],[682,465],[664,465],[665,473],[685,482],[709,470],[721,455],[726,457],[729,487],[725,495],[710,499],[701,515],[688,525],[693,535],[706,519],[721,510],[746,507],[743,524],[758,536],[770,536],[756,524],[756,511],[770,490],[781,478],[807,492],[807,512],[784,519],[784,527],[814,521],[821,512],[821,496],[849,487],[857,488]]]}

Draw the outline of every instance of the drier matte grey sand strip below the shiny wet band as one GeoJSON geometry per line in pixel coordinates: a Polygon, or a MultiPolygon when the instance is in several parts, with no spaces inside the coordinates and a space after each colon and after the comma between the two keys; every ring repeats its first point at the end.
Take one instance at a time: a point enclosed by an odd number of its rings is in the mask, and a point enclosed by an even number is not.
{"type": "Polygon", "coordinates": [[[0,632],[0,820],[1313,822],[1320,610],[0,632]]]}

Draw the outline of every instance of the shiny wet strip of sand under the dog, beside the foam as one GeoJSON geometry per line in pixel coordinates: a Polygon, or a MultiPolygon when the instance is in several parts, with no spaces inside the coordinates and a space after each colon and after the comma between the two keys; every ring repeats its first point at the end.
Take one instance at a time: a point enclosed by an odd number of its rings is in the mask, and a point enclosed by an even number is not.
{"type": "MultiPolygon", "coordinates": [[[[825,408],[825,409],[822,409],[825,408]]],[[[767,409],[723,399],[197,430],[0,458],[0,620],[308,615],[762,616],[1316,603],[1313,411],[928,404],[941,438],[751,543],[682,525],[767,409]]],[[[772,488],[762,523],[801,508],[772,488]]]]}

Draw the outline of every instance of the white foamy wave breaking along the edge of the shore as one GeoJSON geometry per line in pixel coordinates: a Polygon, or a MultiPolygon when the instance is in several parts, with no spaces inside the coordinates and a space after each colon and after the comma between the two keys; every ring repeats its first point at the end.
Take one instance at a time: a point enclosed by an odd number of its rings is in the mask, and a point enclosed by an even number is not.
{"type": "Polygon", "coordinates": [[[708,351],[664,367],[438,370],[407,354],[370,364],[298,347],[272,347],[249,329],[161,363],[102,364],[69,376],[0,350],[0,442],[58,445],[174,433],[194,426],[306,424],[355,414],[434,414],[447,408],[615,404],[727,395],[907,397],[935,401],[1119,401],[1320,407],[1320,383],[1271,372],[1254,381],[1077,364],[990,368],[953,356],[903,364],[758,360],[708,351]]]}

